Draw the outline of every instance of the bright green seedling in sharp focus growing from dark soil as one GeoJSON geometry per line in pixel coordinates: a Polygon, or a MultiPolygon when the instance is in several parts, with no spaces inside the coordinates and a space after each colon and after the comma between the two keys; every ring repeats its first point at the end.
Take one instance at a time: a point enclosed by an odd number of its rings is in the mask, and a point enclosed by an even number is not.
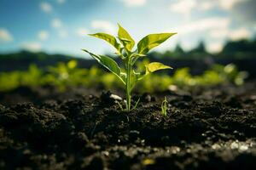
{"type": "Polygon", "coordinates": [[[118,37],[113,37],[112,35],[106,33],[96,33],[89,34],[92,37],[97,37],[113,45],[116,49],[116,53],[120,59],[123,60],[125,65],[124,69],[120,69],[119,65],[110,57],[105,55],[98,55],[90,53],[88,50],[83,49],[84,52],[90,54],[90,56],[98,61],[99,64],[103,65],[108,69],[108,71],[113,72],[116,77],[125,85],[126,92],[126,111],[131,111],[131,91],[135,87],[136,83],[147,76],[149,73],[154,71],[159,71],[163,69],[172,69],[171,66],[163,65],[159,62],[152,62],[145,65],[144,72],[137,72],[134,69],[134,65],[137,59],[146,56],[148,51],[160,45],[160,43],[165,42],[169,37],[172,37],[176,33],[159,33],[159,34],[149,34],[137,43],[137,49],[132,50],[135,45],[135,41],[132,39],[130,34],[125,31],[125,29],[119,26],[118,37]]]}

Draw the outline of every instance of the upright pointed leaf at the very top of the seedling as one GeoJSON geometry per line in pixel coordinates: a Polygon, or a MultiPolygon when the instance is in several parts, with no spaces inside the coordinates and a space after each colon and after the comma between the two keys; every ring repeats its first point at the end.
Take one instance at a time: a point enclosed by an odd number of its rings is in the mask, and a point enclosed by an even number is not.
{"type": "Polygon", "coordinates": [[[122,42],[124,47],[128,50],[131,51],[131,49],[134,47],[135,41],[132,39],[130,34],[122,27],[119,25],[119,40],[122,42]]]}

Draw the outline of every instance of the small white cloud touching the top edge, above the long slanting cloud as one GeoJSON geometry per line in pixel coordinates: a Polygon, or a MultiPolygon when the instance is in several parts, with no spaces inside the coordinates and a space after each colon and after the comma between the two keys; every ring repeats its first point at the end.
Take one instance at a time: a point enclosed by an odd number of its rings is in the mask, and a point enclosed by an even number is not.
{"type": "Polygon", "coordinates": [[[177,3],[172,3],[170,6],[170,10],[172,12],[185,14],[186,16],[189,16],[191,10],[196,7],[196,1],[195,0],[180,0],[177,1],[177,3]]]}

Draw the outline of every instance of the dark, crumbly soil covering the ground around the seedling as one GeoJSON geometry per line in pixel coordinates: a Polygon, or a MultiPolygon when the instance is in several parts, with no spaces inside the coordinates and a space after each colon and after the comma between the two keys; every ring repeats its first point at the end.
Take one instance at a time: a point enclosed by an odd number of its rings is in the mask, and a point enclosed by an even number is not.
{"type": "Polygon", "coordinates": [[[0,93],[0,169],[256,169],[256,82],[135,94],[130,113],[115,98],[86,88],[0,93]]]}

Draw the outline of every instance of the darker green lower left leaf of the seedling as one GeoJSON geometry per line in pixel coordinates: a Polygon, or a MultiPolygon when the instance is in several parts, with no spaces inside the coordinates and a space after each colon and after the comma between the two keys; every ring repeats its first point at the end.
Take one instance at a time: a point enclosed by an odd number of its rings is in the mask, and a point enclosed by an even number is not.
{"type": "Polygon", "coordinates": [[[121,69],[119,67],[119,65],[110,57],[108,56],[104,56],[104,55],[97,55],[97,54],[92,54],[90,53],[88,50],[86,49],[82,49],[85,53],[90,54],[90,56],[94,59],[96,59],[96,61],[98,61],[99,64],[101,64],[102,66],[104,66],[105,68],[108,69],[108,71],[113,72],[113,74],[117,77],[119,77],[119,79],[125,84],[125,73],[121,72],[121,69]]]}

